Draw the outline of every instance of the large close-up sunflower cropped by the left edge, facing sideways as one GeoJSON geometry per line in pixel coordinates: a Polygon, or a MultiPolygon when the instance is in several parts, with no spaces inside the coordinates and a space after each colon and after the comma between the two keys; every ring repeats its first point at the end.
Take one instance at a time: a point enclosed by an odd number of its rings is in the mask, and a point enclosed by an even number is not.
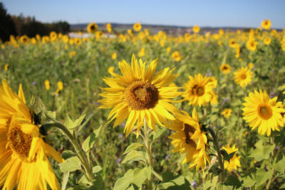
{"type": "Polygon", "coordinates": [[[0,85],[0,186],[2,189],[59,189],[48,162],[63,162],[51,146],[43,142],[39,127],[33,124],[21,85],[19,94],[6,80],[0,85]]]}

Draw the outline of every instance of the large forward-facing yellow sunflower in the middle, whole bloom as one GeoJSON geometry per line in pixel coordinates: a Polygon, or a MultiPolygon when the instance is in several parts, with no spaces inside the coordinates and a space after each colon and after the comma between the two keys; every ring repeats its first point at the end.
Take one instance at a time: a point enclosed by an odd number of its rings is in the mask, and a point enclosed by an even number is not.
{"type": "Polygon", "coordinates": [[[105,92],[100,96],[105,97],[99,100],[103,105],[100,108],[113,108],[108,115],[114,120],[114,127],[120,125],[124,120],[124,132],[128,136],[137,123],[137,135],[140,127],[143,126],[145,118],[147,125],[155,130],[155,123],[160,126],[167,124],[167,120],[175,118],[170,114],[177,111],[177,108],[169,102],[173,97],[181,95],[177,87],[168,87],[179,74],[173,75],[174,69],[165,68],[155,74],[157,59],[153,60],[145,70],[145,63],[132,57],[129,65],[125,60],[119,62],[123,75],[110,73],[115,78],[103,79],[110,88],[101,88],[105,92]]]}

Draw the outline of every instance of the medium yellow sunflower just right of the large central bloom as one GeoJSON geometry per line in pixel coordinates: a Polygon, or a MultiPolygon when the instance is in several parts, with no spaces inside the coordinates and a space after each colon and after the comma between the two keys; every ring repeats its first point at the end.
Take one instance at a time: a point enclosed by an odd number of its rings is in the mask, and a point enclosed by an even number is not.
{"type": "Polygon", "coordinates": [[[186,91],[182,96],[189,101],[189,105],[201,107],[213,99],[215,95],[213,89],[217,87],[217,80],[209,76],[203,77],[199,73],[194,78],[190,75],[187,83],[183,85],[186,91]]]}

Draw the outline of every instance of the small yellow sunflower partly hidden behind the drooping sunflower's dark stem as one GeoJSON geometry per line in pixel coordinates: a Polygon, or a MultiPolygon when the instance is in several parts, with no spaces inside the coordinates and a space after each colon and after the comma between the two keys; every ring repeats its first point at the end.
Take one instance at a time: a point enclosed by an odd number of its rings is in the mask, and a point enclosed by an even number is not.
{"type": "Polygon", "coordinates": [[[237,170],[237,167],[241,167],[239,159],[241,156],[237,157],[237,151],[239,150],[238,148],[236,148],[236,144],[234,144],[232,147],[230,147],[229,145],[227,146],[223,146],[222,149],[224,149],[227,154],[232,154],[233,152],[236,152],[234,154],[234,157],[232,157],[229,162],[227,160],[224,161],[224,169],[227,169],[229,172],[232,171],[232,169],[237,170]]]}

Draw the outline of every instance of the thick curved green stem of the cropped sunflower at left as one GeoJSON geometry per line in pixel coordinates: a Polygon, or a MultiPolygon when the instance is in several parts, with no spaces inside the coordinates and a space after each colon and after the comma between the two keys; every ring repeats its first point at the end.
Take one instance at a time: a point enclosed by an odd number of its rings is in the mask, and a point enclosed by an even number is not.
{"type": "Polygon", "coordinates": [[[83,165],[86,171],[86,173],[83,172],[83,174],[86,175],[86,178],[88,179],[88,181],[92,182],[94,179],[93,172],[92,172],[92,168],[90,167],[88,163],[88,160],[86,159],[86,155],[84,154],[83,150],[81,149],[81,146],[76,141],[76,139],[73,137],[71,132],[69,132],[69,130],[66,128],[66,126],[63,125],[61,122],[55,121],[55,122],[46,123],[42,125],[41,127],[45,127],[46,129],[51,128],[51,127],[56,127],[60,129],[63,132],[63,134],[66,134],[71,144],[73,145],[74,149],[76,150],[76,153],[78,154],[78,158],[81,160],[81,164],[83,165]]]}

